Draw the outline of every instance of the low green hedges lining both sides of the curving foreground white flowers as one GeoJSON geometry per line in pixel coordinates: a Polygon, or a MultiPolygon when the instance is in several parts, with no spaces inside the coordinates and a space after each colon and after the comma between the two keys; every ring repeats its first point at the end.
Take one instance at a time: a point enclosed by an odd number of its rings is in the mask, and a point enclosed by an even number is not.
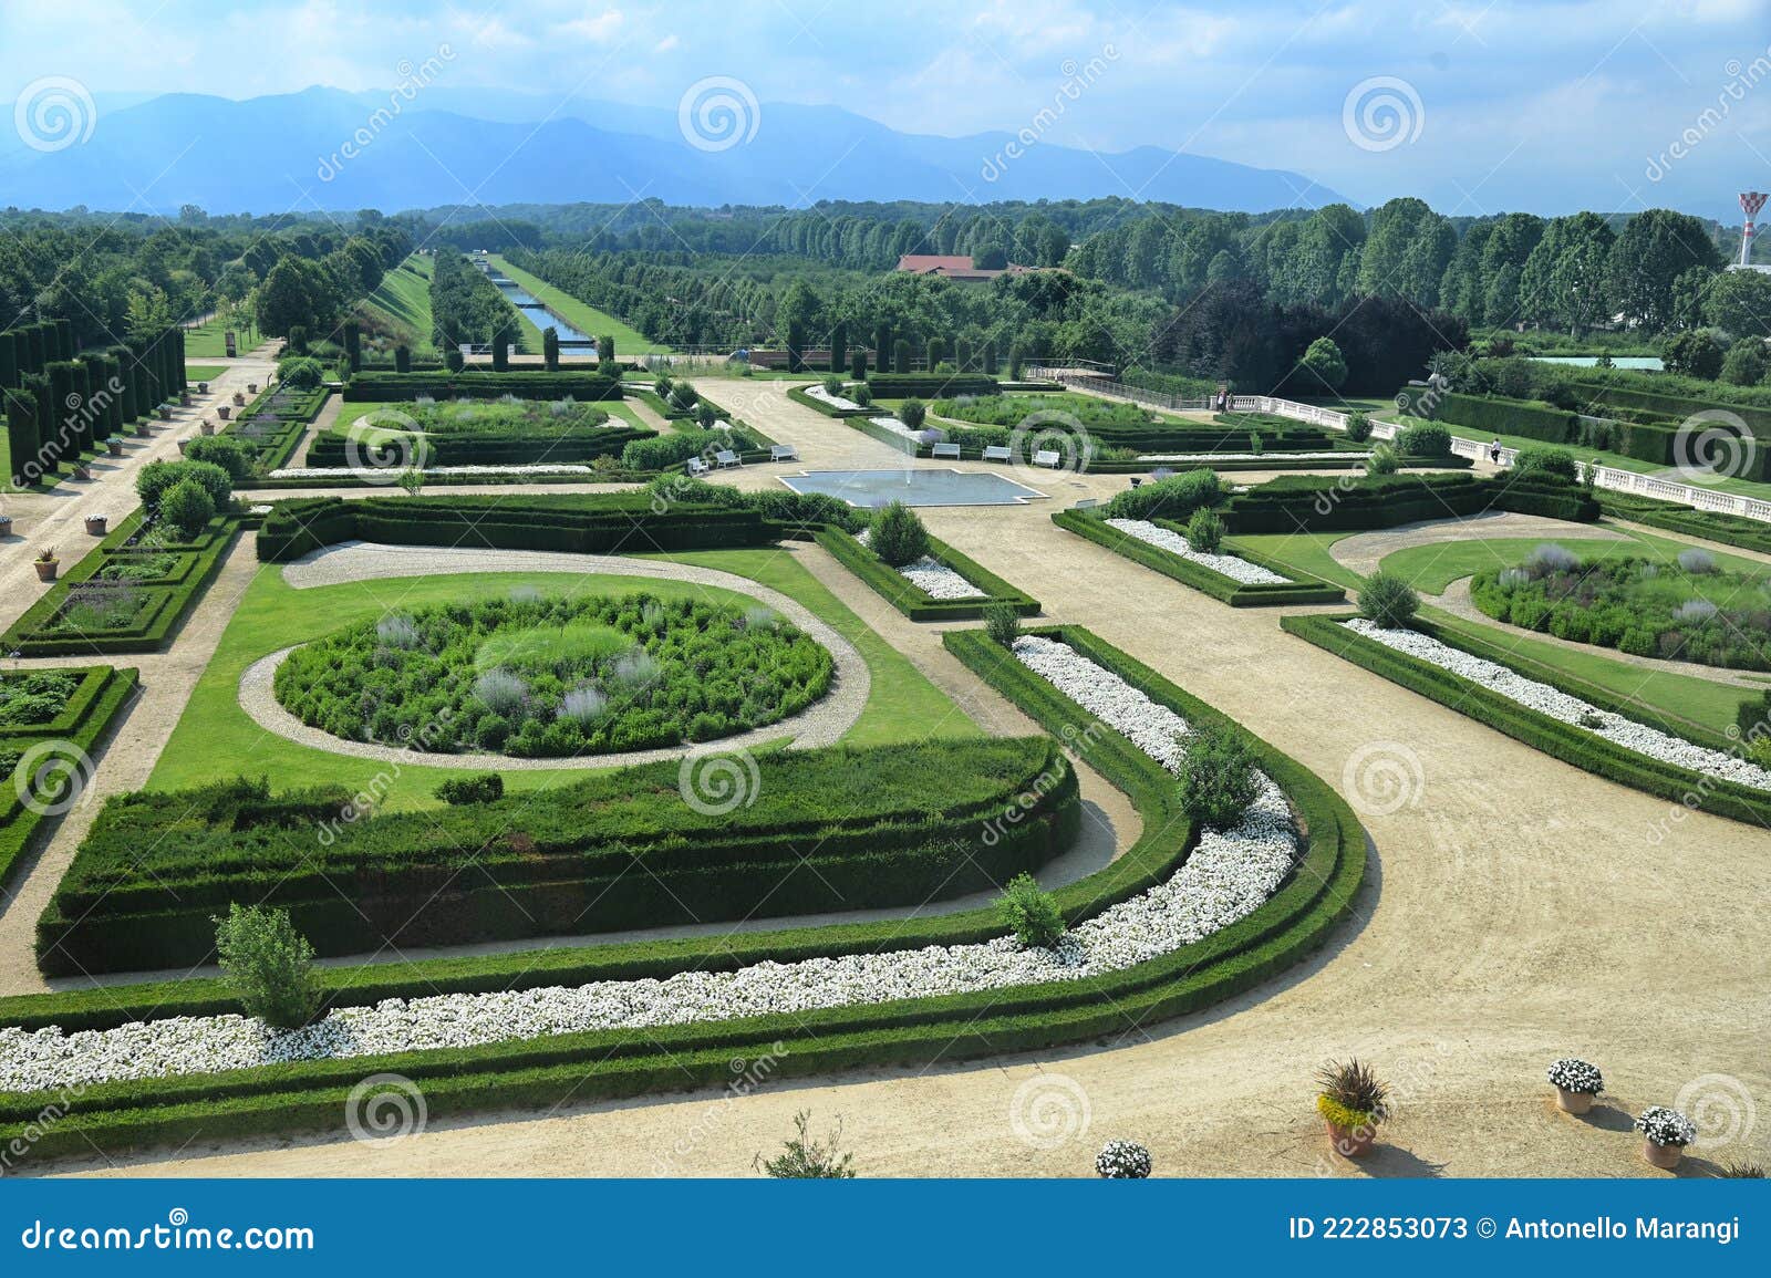
{"type": "MultiPolygon", "coordinates": [[[[1110,664],[1148,694],[1190,719],[1220,720],[1158,674],[1084,630],[1056,632],[1110,664]]],[[[1077,708],[1008,658],[978,632],[949,634],[947,646],[1032,717],[1066,731],[1071,749],[1126,789],[1144,818],[1137,844],[1107,869],[1057,896],[1071,919],[1096,913],[1146,880],[1178,867],[1190,830],[1174,782],[1112,729],[1075,735],[1077,708]]],[[[262,1066],[227,1074],[101,1083],[78,1096],[0,1096],[0,1142],[35,1122],[46,1099],[66,1105],[58,1122],[32,1133],[34,1158],[120,1151],[179,1142],[225,1124],[234,1135],[336,1129],[345,1096],[365,1074],[391,1069],[425,1092],[432,1117],[485,1108],[545,1106],[567,1096],[620,1097],[730,1080],[730,1060],[770,1051],[781,1074],[855,1066],[926,1066],[1130,1032],[1139,1025],[1210,1007],[1243,993],[1319,949],[1351,908],[1365,869],[1364,834],[1346,804],[1312,774],[1256,742],[1261,766],[1286,789],[1307,828],[1298,871],[1263,906],[1194,945],[1089,981],[1061,981],[942,998],[838,1007],[795,1016],[756,1016],[707,1025],[604,1030],[446,1051],[262,1066]]],[[[322,979],[349,1002],[437,989],[533,988],[613,975],[653,975],[698,966],[730,970],[760,958],[790,961],[857,949],[962,943],[1001,935],[994,912],[859,924],[797,933],[735,935],[714,942],[653,942],[597,951],[439,959],[423,965],[329,968],[322,979]],[[586,961],[590,956],[590,961],[586,961]],[[645,956],[645,958],[641,958],[645,956]],[[390,970],[391,968],[391,970],[390,970]],[[349,991],[347,995],[342,991],[349,991]]],[[[71,995],[0,1000],[0,1023],[99,1028],[140,1016],[230,1009],[220,982],[113,986],[71,995]]]]}

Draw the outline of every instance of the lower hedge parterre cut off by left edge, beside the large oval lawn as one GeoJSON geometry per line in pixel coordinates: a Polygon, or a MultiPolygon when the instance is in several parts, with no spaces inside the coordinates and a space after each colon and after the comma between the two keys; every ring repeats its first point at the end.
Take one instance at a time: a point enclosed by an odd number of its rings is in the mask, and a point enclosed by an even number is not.
{"type": "Polygon", "coordinates": [[[67,811],[90,758],[135,696],[136,673],[64,666],[0,674],[0,887],[44,820],[67,811]],[[74,788],[69,788],[74,786],[74,788]]]}

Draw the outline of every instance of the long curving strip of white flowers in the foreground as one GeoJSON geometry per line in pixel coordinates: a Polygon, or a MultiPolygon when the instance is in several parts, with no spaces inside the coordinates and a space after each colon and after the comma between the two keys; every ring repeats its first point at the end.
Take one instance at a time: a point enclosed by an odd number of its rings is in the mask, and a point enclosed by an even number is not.
{"type": "MultiPolygon", "coordinates": [[[[1022,637],[1015,655],[1087,713],[1126,733],[1171,772],[1187,724],[1118,674],[1050,639],[1022,637]]],[[[388,998],[342,1007],[290,1032],[246,1016],[174,1016],[110,1030],[62,1034],[0,1028],[0,1090],[30,1092],[168,1074],[462,1048],[620,1027],[687,1025],[737,1016],[806,1012],[850,1004],[1080,981],[1144,963],[1236,922],[1266,901],[1296,857],[1291,811],[1279,786],[1243,821],[1206,830],[1165,883],[1077,924],[1052,951],[1013,938],[979,945],[843,954],[756,963],[737,972],[680,972],[664,981],[595,981],[514,993],[388,998]]]]}

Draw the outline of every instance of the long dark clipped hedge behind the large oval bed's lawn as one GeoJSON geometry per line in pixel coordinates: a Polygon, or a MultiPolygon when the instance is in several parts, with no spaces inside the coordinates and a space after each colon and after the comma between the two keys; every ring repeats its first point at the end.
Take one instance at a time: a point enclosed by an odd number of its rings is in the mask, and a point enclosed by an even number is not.
{"type": "Polygon", "coordinates": [[[310,497],[271,508],[259,531],[259,558],[289,563],[338,542],[632,554],[767,545],[777,535],[777,526],[746,506],[684,501],[657,510],[646,492],[310,497]]]}

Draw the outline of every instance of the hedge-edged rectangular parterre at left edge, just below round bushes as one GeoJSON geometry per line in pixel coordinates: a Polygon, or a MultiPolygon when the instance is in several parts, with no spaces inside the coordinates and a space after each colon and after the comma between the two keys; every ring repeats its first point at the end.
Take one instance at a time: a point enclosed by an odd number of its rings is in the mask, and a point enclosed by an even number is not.
{"type": "Polygon", "coordinates": [[[14,621],[0,644],[25,657],[159,651],[214,579],[241,526],[216,515],[195,538],[129,515],[14,621]]]}

